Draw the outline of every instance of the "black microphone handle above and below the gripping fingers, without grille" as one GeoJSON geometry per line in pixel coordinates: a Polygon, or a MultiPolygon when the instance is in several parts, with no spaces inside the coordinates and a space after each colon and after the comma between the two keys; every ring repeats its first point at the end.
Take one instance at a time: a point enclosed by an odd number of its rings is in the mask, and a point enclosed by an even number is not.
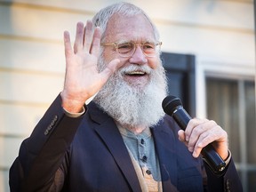
{"type": "MultiPolygon", "coordinates": [[[[191,116],[188,115],[187,111],[180,107],[172,113],[173,119],[179,124],[180,128],[185,131],[191,116]]],[[[201,151],[204,161],[210,166],[213,172],[220,173],[225,169],[226,163],[215,151],[210,143],[204,147],[201,151]]]]}

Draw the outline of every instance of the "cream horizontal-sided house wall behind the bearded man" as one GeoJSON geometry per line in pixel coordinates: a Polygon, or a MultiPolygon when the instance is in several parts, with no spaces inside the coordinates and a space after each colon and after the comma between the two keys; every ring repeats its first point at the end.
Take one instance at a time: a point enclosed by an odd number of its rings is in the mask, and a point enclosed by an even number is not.
{"type": "MultiPolygon", "coordinates": [[[[0,1],[0,192],[8,170],[46,108],[61,91],[63,31],[115,0],[0,1]]],[[[204,73],[254,76],[252,0],[130,0],[156,22],[164,52],[196,55],[196,99],[204,73]]],[[[198,102],[197,102],[198,103],[198,102]]],[[[196,106],[205,116],[205,106],[196,106]]]]}

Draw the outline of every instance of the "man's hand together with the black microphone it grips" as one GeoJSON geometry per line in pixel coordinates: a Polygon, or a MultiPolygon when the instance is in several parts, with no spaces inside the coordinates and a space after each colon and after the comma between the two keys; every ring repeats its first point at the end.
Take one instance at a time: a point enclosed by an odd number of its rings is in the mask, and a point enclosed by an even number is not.
{"type": "Polygon", "coordinates": [[[228,138],[218,124],[209,120],[193,119],[182,107],[179,98],[167,96],[162,103],[164,112],[172,116],[184,132],[179,132],[180,140],[188,145],[188,150],[197,157],[200,152],[204,160],[209,164],[213,172],[220,173],[224,170],[226,163],[221,156],[228,157],[228,138]],[[190,121],[191,120],[191,121],[190,121]],[[220,152],[219,155],[217,151],[220,152]]]}

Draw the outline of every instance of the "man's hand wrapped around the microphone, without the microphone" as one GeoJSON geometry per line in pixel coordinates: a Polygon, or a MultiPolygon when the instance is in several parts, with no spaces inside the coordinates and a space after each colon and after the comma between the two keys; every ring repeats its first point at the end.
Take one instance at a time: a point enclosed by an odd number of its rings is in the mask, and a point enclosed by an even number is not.
{"type": "Polygon", "coordinates": [[[179,140],[185,142],[194,157],[200,155],[202,148],[212,143],[213,148],[223,160],[228,157],[228,134],[214,121],[191,119],[186,131],[178,132],[179,140]]]}

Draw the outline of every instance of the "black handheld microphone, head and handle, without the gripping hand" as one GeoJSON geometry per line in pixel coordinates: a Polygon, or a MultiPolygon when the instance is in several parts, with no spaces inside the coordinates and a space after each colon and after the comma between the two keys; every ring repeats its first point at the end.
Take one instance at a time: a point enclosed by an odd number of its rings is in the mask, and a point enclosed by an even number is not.
{"type": "MultiPolygon", "coordinates": [[[[162,103],[164,112],[172,116],[180,128],[185,131],[191,116],[183,108],[181,100],[172,95],[167,96],[162,103]]],[[[204,161],[210,166],[213,172],[220,173],[225,169],[226,163],[212,147],[212,144],[207,145],[201,151],[204,161]]]]}

